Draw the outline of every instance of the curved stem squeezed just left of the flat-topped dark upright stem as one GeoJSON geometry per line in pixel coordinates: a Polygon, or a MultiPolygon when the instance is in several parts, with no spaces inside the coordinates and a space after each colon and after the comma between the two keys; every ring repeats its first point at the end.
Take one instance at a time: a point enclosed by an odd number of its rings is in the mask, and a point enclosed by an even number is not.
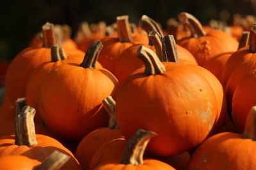
{"type": "Polygon", "coordinates": [[[153,30],[148,34],[149,41],[153,43],[153,45],[156,48],[156,55],[157,57],[163,61],[163,55],[162,55],[162,42],[161,42],[161,36],[160,34],[153,30]]]}

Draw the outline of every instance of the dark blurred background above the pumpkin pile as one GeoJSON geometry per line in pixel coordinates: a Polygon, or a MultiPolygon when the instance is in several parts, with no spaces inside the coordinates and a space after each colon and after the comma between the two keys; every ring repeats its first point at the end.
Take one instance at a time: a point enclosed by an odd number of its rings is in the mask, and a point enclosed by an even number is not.
{"type": "Polygon", "coordinates": [[[129,15],[130,22],[138,23],[145,14],[164,27],[168,18],[181,11],[195,15],[202,24],[220,19],[223,11],[230,13],[229,24],[234,13],[256,14],[255,0],[5,0],[0,6],[0,59],[13,59],[47,21],[68,24],[76,31],[83,20],[112,24],[118,15],[129,15]]]}

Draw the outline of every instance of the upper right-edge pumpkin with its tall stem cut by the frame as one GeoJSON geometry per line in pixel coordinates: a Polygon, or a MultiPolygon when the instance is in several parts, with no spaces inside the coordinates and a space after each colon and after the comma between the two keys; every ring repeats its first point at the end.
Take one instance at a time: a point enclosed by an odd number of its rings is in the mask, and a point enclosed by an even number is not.
{"type": "MultiPolygon", "coordinates": [[[[225,67],[223,69],[222,81],[223,87],[226,87],[228,80],[234,70],[246,60],[253,59],[256,52],[256,24],[253,25],[250,31],[249,46],[244,46],[233,53],[231,57],[227,60],[225,67]]],[[[228,95],[229,97],[229,95],[228,95]]]]}

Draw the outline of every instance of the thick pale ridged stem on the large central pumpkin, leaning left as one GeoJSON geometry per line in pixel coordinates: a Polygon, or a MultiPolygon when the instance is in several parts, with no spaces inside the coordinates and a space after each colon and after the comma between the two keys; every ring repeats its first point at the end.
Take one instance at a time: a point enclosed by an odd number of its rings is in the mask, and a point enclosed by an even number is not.
{"type": "Polygon", "coordinates": [[[148,76],[162,74],[165,71],[164,65],[161,63],[156,53],[145,46],[140,46],[137,55],[145,65],[145,74],[148,76]]]}

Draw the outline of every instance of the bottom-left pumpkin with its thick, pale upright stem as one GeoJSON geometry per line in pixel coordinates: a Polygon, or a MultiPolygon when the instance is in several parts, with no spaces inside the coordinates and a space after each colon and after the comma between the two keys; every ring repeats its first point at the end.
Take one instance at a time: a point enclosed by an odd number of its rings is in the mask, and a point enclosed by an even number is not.
{"type": "Polygon", "coordinates": [[[35,109],[29,106],[24,106],[17,114],[15,117],[15,135],[1,136],[0,138],[0,157],[24,155],[42,161],[52,151],[58,150],[72,157],[68,160],[68,166],[63,167],[63,169],[81,169],[74,155],[60,142],[49,136],[35,134],[34,116],[35,109]]]}

